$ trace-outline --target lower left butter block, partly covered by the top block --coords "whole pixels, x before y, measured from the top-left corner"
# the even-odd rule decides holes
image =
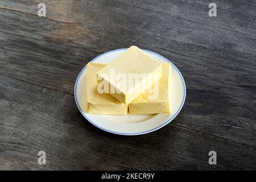
[[[99,93],[97,89],[97,72],[105,64],[88,63],[85,77],[85,113],[91,114],[127,114],[126,104],[116,100],[107,93]]]

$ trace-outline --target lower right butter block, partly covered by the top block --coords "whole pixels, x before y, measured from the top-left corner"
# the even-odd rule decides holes
[[[154,86],[157,89],[148,89],[129,104],[131,114],[157,114],[170,112],[171,65],[162,63],[163,77]],[[152,87],[152,88],[153,88]],[[150,92],[149,92],[150,91]],[[158,93],[157,93],[158,92]]]

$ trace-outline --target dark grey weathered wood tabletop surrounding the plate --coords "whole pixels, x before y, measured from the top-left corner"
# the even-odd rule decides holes
[[[40,2],[0,0],[0,169],[256,169],[256,1],[214,1],[209,17],[212,1],[44,0],[45,18]],[[187,98],[167,126],[126,137],[87,122],[73,88],[131,45],[172,60]]]

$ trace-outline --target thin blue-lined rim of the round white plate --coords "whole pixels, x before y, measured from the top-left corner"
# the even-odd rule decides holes
[[[108,53],[115,52],[115,51],[122,51],[122,50],[126,50],[126,49],[127,49],[127,48],[121,48],[121,49],[115,49],[115,50],[112,50],[112,51],[108,51],[108,52],[102,53],[101,55],[95,57],[95,58],[94,58],[92,61],[90,61],[90,62],[96,61],[98,58],[100,58],[101,56],[104,56],[104,55],[106,55],[106,54],[108,54]],[[170,122],[177,116],[177,114],[179,114],[181,108],[183,107],[184,102],[185,102],[185,97],[186,97],[186,86],[185,86],[184,78],[183,78],[183,76],[181,75],[179,69],[177,69],[177,68],[175,67],[175,65],[174,65],[171,61],[169,61],[168,59],[166,59],[166,57],[163,57],[163,56],[159,55],[158,53],[155,53],[155,52],[152,52],[152,51],[148,51],[148,50],[145,50],[145,49],[142,49],[142,50],[143,50],[144,52],[150,52],[150,53],[152,53],[152,54],[154,54],[154,55],[156,55],[156,56],[162,57],[162,59],[164,59],[164,60],[167,61],[168,63],[171,63],[172,67],[174,67],[174,68],[176,69],[177,73],[179,73],[179,76],[180,76],[180,78],[181,78],[181,80],[182,80],[182,83],[183,83],[183,100],[182,100],[182,102],[181,102],[181,104],[180,104],[180,106],[179,106],[179,109],[176,111],[176,113],[174,114],[173,117],[167,119],[167,121],[165,121],[162,125],[160,125],[160,126],[158,126],[158,127],[155,127],[154,129],[147,130],[147,131],[143,131],[143,132],[140,132],[140,133],[118,133],[118,132],[116,132],[116,131],[111,131],[111,130],[108,130],[108,129],[104,129],[104,128],[102,128],[102,127],[96,125],[96,123],[94,123],[94,122],[91,121],[88,117],[86,117],[86,115],[84,114],[84,112],[81,110],[81,107],[80,107],[79,103],[77,102],[77,94],[76,94],[77,82],[79,81],[79,78],[80,78],[82,72],[84,72],[84,70],[86,69],[86,67],[87,67],[87,64],[86,64],[85,67],[82,68],[82,71],[79,73],[79,76],[78,76],[77,79],[76,79],[75,92],[74,92],[74,93],[75,93],[75,101],[76,101],[77,107],[79,108],[81,114],[85,117],[85,119],[87,119],[90,123],[92,123],[94,126],[98,127],[99,129],[104,130],[104,131],[108,131],[109,133],[118,134],[118,135],[142,135],[142,134],[147,134],[147,133],[150,133],[150,132],[152,132],[152,131],[158,130],[158,129],[160,129],[160,128],[166,126],[168,123],[170,123]]]

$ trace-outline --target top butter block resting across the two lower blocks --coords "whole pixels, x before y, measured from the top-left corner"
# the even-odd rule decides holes
[[[137,78],[139,76],[139,79],[129,80],[133,76]],[[146,92],[147,88],[161,77],[162,65],[136,46],[128,48],[97,73],[98,82],[109,85],[108,88],[105,86],[105,93],[125,104],[129,104],[141,93]],[[126,82],[121,84],[125,79]]]

